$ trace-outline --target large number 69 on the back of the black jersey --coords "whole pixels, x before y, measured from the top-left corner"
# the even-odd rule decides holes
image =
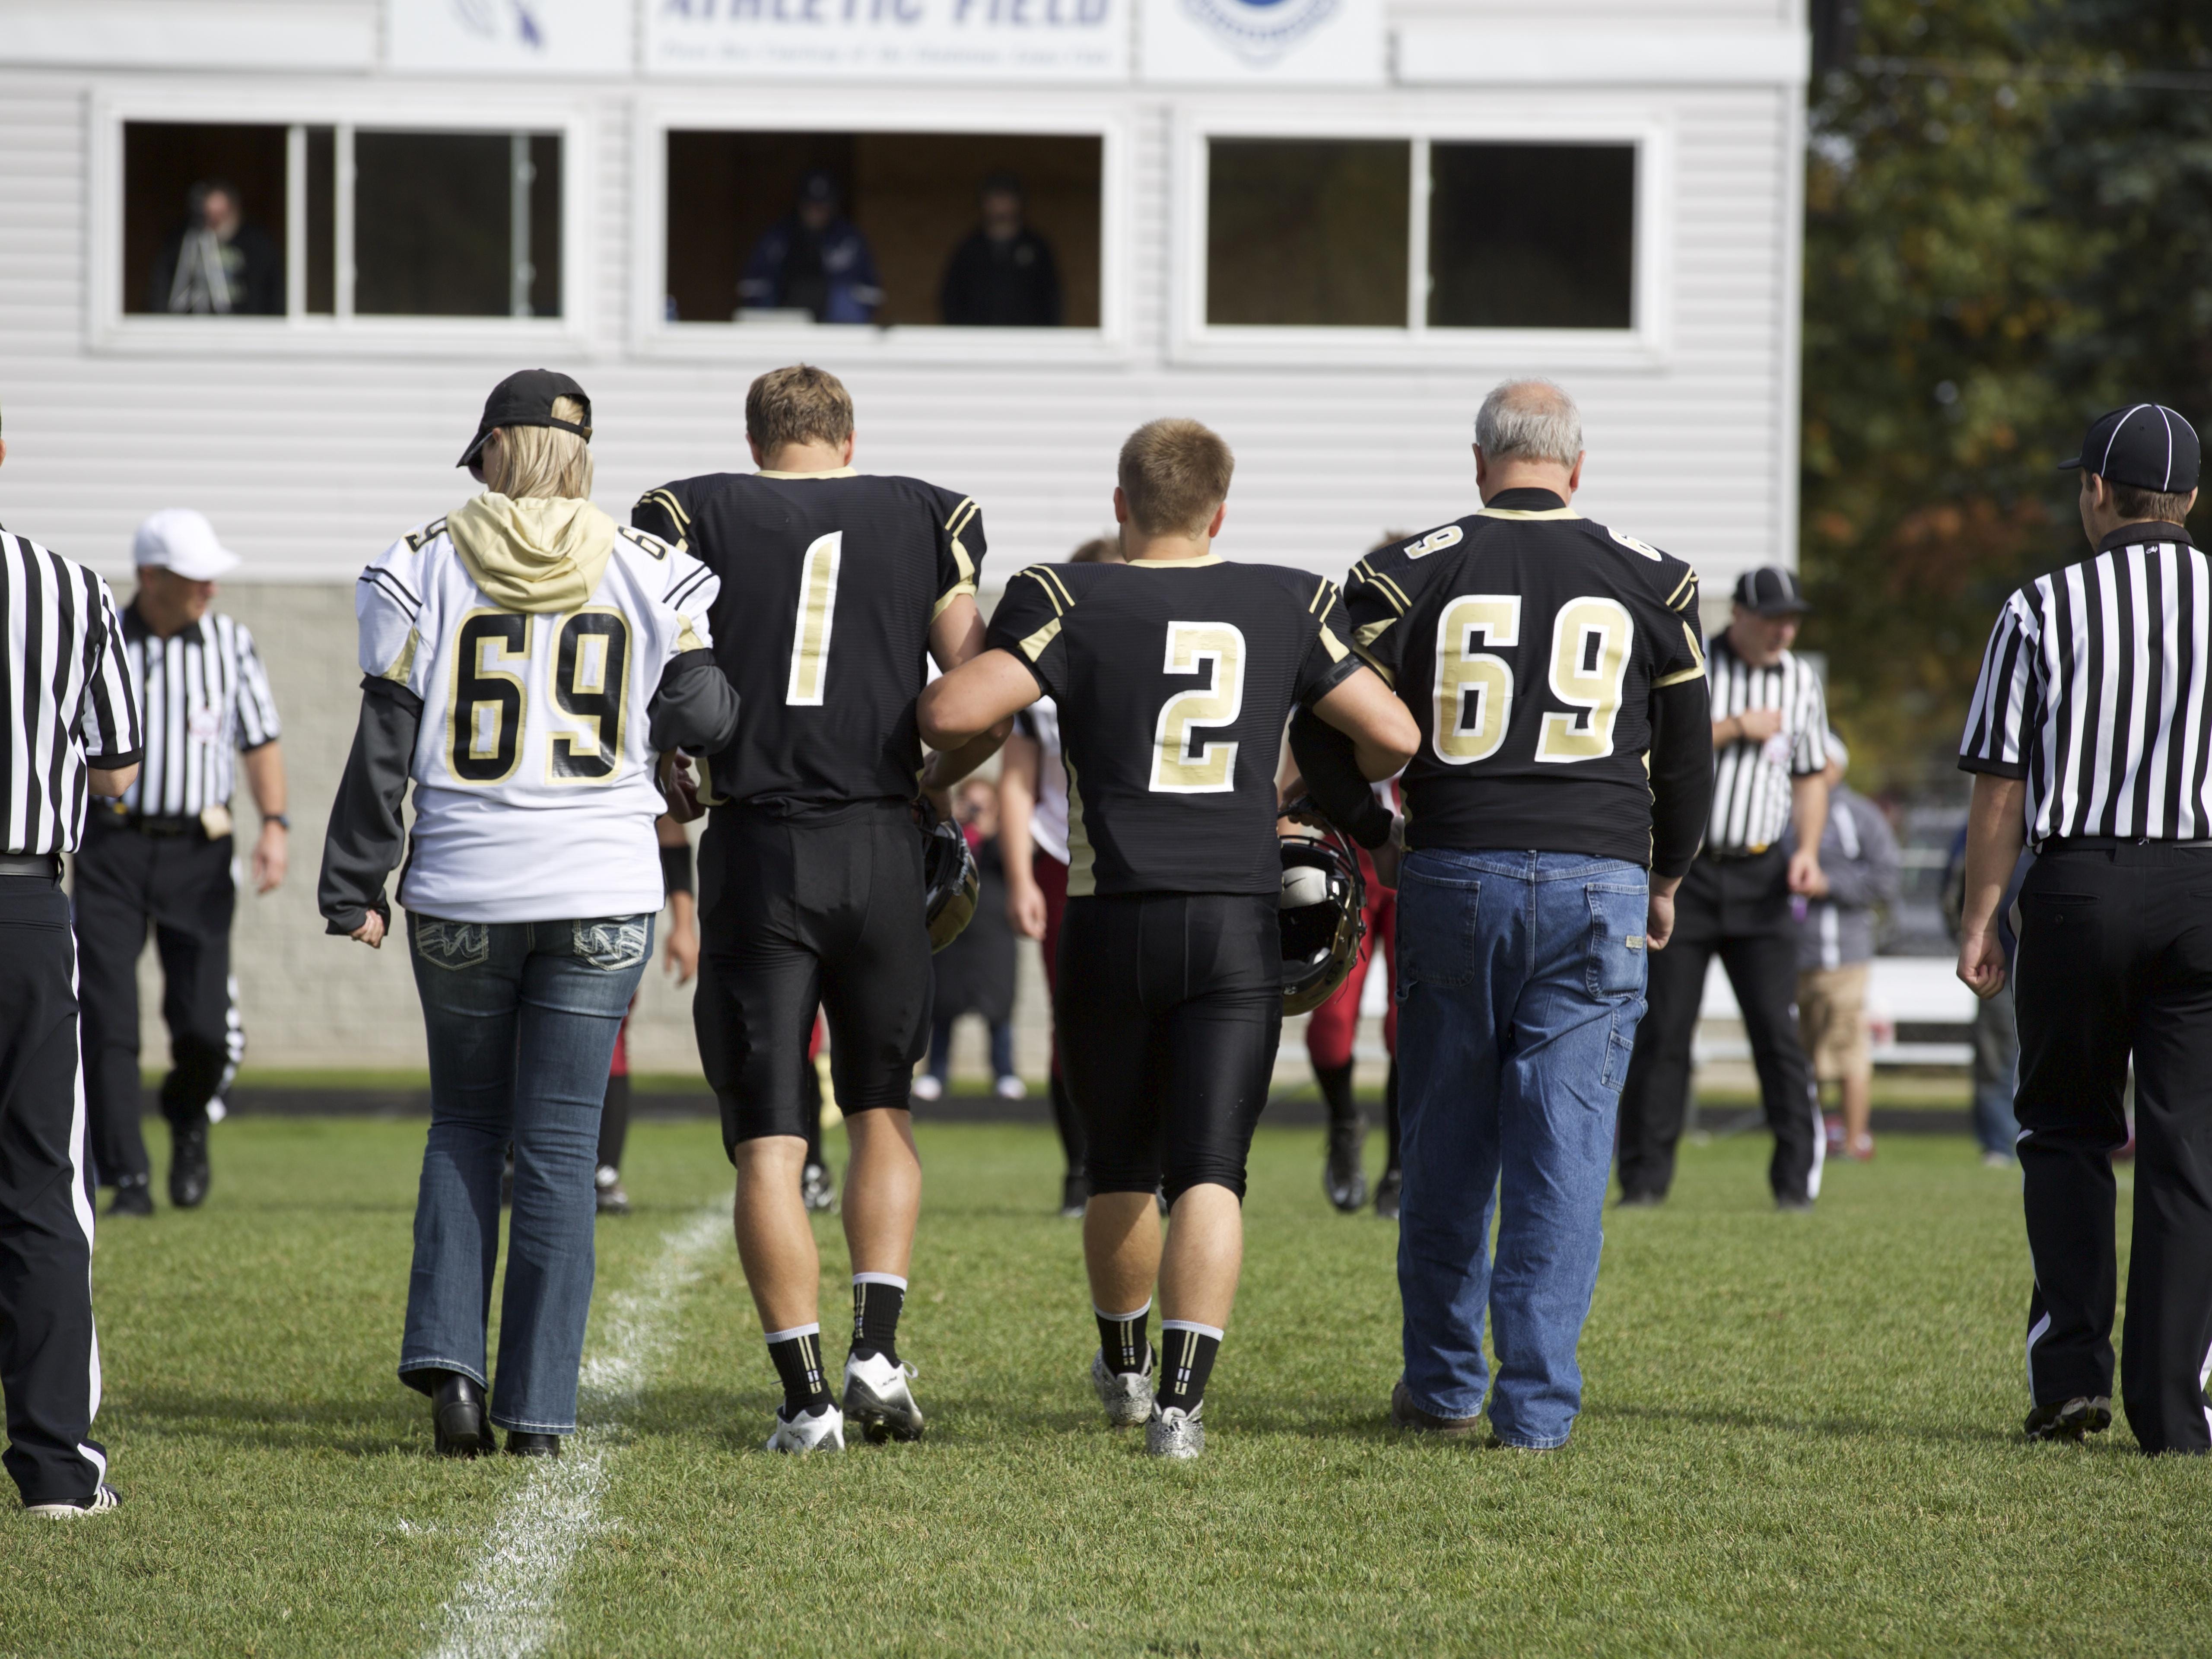
[[[1469,593],[1436,619],[1429,745],[1444,765],[1473,765],[1504,745],[1513,726],[1513,664],[1489,648],[1517,646],[1520,622],[1517,593]],[[1613,754],[1632,639],[1635,626],[1619,599],[1584,595],[1559,606],[1551,626],[1551,695],[1573,712],[1544,714],[1537,763],[1571,765]]]

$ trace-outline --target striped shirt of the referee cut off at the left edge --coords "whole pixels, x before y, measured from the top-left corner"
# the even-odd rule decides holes
[[[0,852],[75,852],[86,772],[139,759],[137,686],[108,584],[0,531]]]

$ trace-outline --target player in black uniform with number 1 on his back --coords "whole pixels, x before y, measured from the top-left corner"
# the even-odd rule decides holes
[[[783,1380],[774,1451],[914,1440],[898,1360],[922,1168],[907,1086],[929,1020],[922,774],[914,697],[925,653],[982,650],[975,502],[852,467],[852,396],[834,374],[774,369],[745,394],[754,473],[648,491],[633,524],[721,575],[714,650],[739,692],[737,739],[701,765],[699,1055],[737,1166],[737,1248]],[[967,772],[1004,732],[967,757]],[[845,1243],[854,1340],[843,1396],[821,1358],[818,1259],[801,1199],[814,1009],[852,1135]],[[843,1411],[841,1411],[843,1398]]]

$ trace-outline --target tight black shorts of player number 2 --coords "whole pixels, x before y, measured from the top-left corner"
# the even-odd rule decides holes
[[[1071,898],[1053,1022],[1093,1192],[1245,1190],[1283,1040],[1274,898]]]

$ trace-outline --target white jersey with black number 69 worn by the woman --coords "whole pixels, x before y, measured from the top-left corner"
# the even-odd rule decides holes
[[[436,520],[363,573],[361,668],[422,699],[398,900],[456,922],[661,907],[646,706],[670,659],[710,650],[719,580],[622,529],[573,611],[498,606]]]

